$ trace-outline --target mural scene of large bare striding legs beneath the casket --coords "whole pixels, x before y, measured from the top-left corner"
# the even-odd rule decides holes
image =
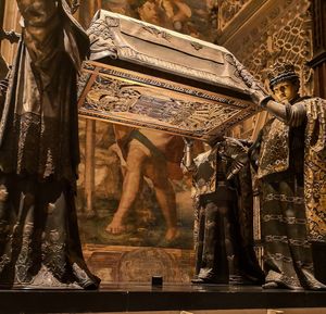
[[[191,249],[189,178],[176,136],[96,123],[92,209],[85,193],[85,121],[80,121],[78,209],[83,240],[97,244]]]

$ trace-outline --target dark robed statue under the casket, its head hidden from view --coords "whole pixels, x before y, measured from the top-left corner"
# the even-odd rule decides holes
[[[196,204],[192,282],[262,284],[264,275],[253,250],[253,198],[246,147],[237,139],[224,138],[193,163],[190,160],[186,153],[184,165],[192,173]]]

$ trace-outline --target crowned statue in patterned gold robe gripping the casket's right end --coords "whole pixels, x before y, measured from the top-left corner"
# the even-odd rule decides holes
[[[313,265],[312,246],[325,254],[326,101],[300,97],[299,86],[294,66],[280,64],[269,73],[273,97],[254,92],[273,117],[251,156],[261,183],[264,287],[318,290],[326,286],[316,271],[325,275],[325,264]]]

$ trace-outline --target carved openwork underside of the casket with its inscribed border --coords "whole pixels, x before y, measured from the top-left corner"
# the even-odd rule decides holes
[[[148,95],[154,98],[150,108]],[[155,108],[161,102],[158,113]],[[180,116],[172,114],[175,105],[180,106]],[[225,134],[255,113],[256,108],[250,101],[97,62],[84,63],[79,81],[83,116],[203,140]]]

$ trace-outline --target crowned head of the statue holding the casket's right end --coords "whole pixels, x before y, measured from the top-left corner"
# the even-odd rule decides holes
[[[274,65],[268,72],[268,79],[269,88],[277,101],[290,102],[298,97],[300,80],[293,64]]]

